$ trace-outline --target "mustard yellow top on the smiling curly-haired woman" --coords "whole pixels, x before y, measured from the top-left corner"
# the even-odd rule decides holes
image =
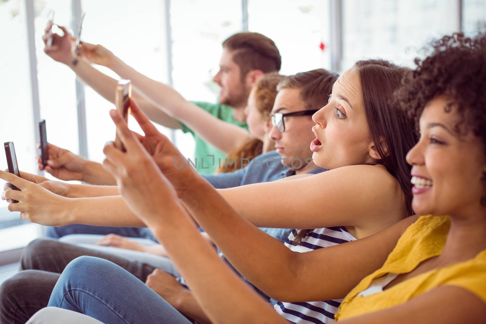
[[[486,303],[486,250],[465,262],[419,274],[384,291],[363,296],[373,279],[388,273],[409,273],[420,262],[442,253],[451,222],[449,216],[421,216],[400,237],[382,268],[365,277],[349,292],[335,320],[364,315],[403,304],[439,286],[458,286]]]

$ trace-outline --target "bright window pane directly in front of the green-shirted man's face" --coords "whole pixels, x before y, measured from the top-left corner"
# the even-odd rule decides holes
[[[240,0],[171,1],[172,77],[174,88],[191,101],[216,102],[219,89],[212,82],[218,72],[221,43],[242,31]],[[179,150],[193,157],[191,134],[176,132]]]

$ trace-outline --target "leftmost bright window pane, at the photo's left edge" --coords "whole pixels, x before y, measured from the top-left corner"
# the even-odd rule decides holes
[[[32,102],[27,13],[23,1],[0,1],[0,167],[7,168],[3,142],[15,144],[19,169],[35,172],[35,127]],[[3,191],[3,180],[0,189]],[[0,251],[16,248],[36,236],[35,225],[19,225],[18,213],[0,200]],[[7,228],[9,227],[9,228]],[[20,228],[22,227],[22,228]],[[34,230],[33,230],[34,229]]]

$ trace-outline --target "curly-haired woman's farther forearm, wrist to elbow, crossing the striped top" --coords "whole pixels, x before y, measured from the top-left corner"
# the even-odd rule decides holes
[[[197,182],[183,202],[231,264],[271,297],[296,284],[296,254],[238,215],[208,182]]]

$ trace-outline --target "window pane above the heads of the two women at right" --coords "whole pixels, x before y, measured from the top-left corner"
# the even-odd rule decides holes
[[[413,66],[417,50],[432,38],[459,30],[457,0],[343,0],[345,70],[362,58],[386,58]]]

